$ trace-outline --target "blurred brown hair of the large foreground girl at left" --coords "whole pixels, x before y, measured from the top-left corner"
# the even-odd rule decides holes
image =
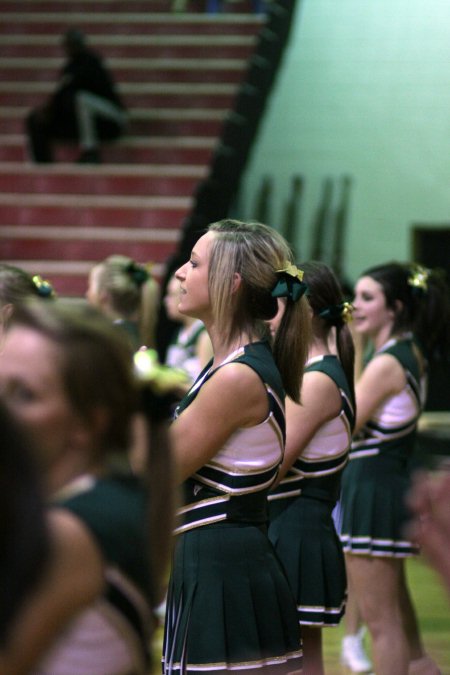
[[[96,412],[106,411],[98,452],[125,451],[137,396],[126,337],[84,300],[23,303],[12,322],[57,345],[66,394],[86,422],[93,424]]]

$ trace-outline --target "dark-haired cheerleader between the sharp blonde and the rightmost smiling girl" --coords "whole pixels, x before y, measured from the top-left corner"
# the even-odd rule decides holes
[[[339,497],[355,419],[353,341],[332,270],[302,264],[312,317],[301,404],[287,400],[286,452],[269,495],[269,536],[294,590],[302,628],[304,670],[323,675],[321,629],[344,614],[346,572],[332,511]],[[272,322],[276,331],[281,311]]]

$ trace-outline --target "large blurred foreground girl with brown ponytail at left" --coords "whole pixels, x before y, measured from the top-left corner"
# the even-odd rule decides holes
[[[23,304],[0,392],[33,441],[50,537],[0,672],[144,675],[170,541],[170,453],[153,430],[147,480],[128,467],[140,392],[125,337],[85,302]],[[161,492],[167,509],[155,515]]]

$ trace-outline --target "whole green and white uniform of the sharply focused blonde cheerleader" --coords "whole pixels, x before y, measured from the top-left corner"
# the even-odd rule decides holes
[[[294,598],[266,532],[267,493],[284,452],[284,392],[267,343],[236,350],[219,368],[236,362],[259,375],[270,412],[232,434],[183,486],[164,673],[284,675],[301,668]],[[177,415],[215,372],[205,368]]]

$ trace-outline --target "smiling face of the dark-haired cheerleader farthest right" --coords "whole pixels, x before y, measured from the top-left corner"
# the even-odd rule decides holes
[[[383,287],[372,277],[358,280],[353,307],[353,327],[363,335],[370,337],[394,323],[394,312],[386,306]]]

